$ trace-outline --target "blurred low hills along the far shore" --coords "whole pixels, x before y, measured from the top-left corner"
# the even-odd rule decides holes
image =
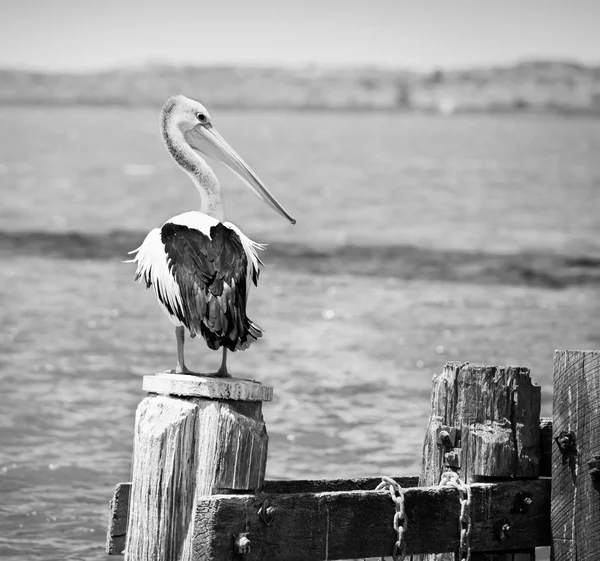
[[[160,106],[177,92],[228,108],[600,114],[600,65],[531,60],[428,72],[171,64],[86,73],[0,70],[3,105]]]

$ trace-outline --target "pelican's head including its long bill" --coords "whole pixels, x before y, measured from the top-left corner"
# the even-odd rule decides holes
[[[176,128],[192,150],[225,164],[259,199],[292,224],[296,223],[296,219],[277,202],[250,166],[217,132],[204,105],[183,95],[170,97],[162,109],[161,126],[167,143],[173,136],[172,128]]]

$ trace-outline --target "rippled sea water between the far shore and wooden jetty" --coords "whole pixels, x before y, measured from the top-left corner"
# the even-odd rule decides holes
[[[269,244],[230,355],[273,386],[270,479],[415,475],[447,361],[531,369],[600,348],[600,120],[215,110],[297,218],[217,168],[228,220]],[[142,377],[173,327],[128,251],[198,194],[158,110],[0,109],[0,558],[106,559]],[[195,370],[219,353],[186,347]]]

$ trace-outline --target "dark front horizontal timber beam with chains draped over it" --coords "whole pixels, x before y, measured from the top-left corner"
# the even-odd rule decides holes
[[[455,551],[458,492],[404,490],[407,554]],[[524,506],[524,497],[532,499]],[[517,551],[550,543],[550,481],[472,486],[472,550]],[[270,507],[265,519],[260,513]],[[262,508],[262,511],[261,511]],[[314,561],[390,555],[394,504],[386,491],[215,495],[198,503],[194,561],[231,559],[247,534],[245,561]],[[509,531],[502,533],[508,525]]]

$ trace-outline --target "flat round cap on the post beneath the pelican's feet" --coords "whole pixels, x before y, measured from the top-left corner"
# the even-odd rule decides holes
[[[142,389],[151,393],[181,397],[207,397],[234,401],[271,401],[273,399],[273,388],[263,386],[254,380],[166,372],[154,376],[144,376]]]

